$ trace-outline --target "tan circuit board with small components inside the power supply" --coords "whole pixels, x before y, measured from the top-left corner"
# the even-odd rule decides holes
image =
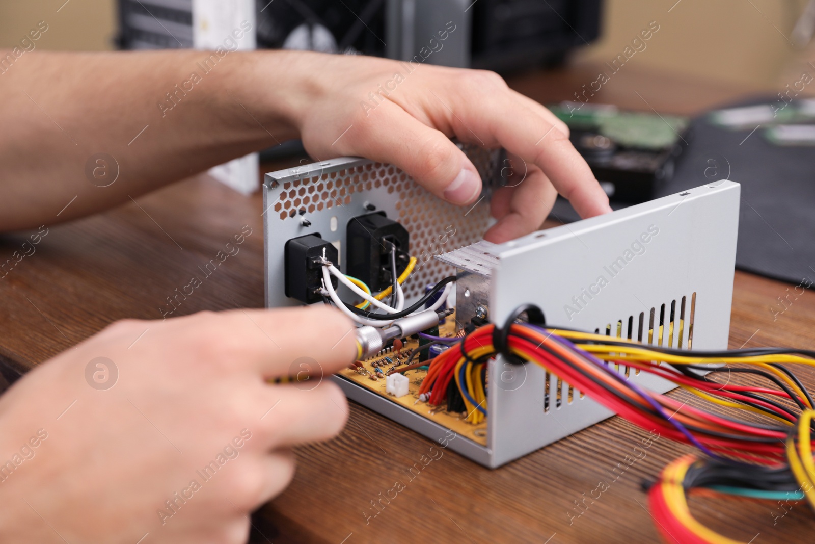
[[[452,316],[448,316],[443,325],[438,325],[438,331],[443,337],[456,336],[456,315],[453,314]],[[416,412],[416,414],[421,414],[423,417],[428,418],[431,421],[442,425],[443,427],[451,429],[459,436],[464,436],[465,438],[469,438],[469,440],[473,440],[477,444],[486,446],[486,421],[479,423],[478,425],[473,425],[465,422],[465,416],[467,414],[447,412],[445,406],[431,406],[426,402],[419,400],[419,386],[421,385],[422,380],[425,379],[425,376],[427,376],[427,370],[415,369],[408,370],[404,373],[404,375],[410,379],[407,388],[407,395],[397,398],[395,396],[388,395],[385,392],[384,373],[386,373],[393,365],[404,365],[407,361],[407,357],[410,355],[410,352],[412,352],[412,350],[416,347],[419,347],[419,340],[407,338],[403,343],[403,347],[399,351],[399,354],[394,352],[393,347],[388,347],[377,353],[377,355],[372,356],[370,359],[359,361],[359,363],[362,364],[362,369],[364,370],[342,369],[339,374],[370,391],[374,391],[375,393],[384,396],[391,402],[402,405],[403,407]],[[385,361],[385,357],[390,358],[393,363],[391,364],[390,362]],[[383,374],[379,374],[377,372],[377,365],[381,365]],[[399,366],[396,368],[398,369]],[[371,377],[372,374],[378,374],[379,376],[383,377],[375,379]]]

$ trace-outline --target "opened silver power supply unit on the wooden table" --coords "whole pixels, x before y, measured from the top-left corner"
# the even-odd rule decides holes
[[[379,213],[400,223],[409,235],[409,246],[402,249],[416,258],[416,266],[405,283],[407,303],[420,299],[427,285],[455,276],[455,296],[447,299],[455,314],[438,324],[437,335],[463,334],[476,321],[502,323],[513,308],[531,303],[540,307],[553,329],[596,331],[685,350],[727,347],[738,184],[720,181],[492,244],[481,235],[490,223],[491,191],[506,183],[501,155],[480,148],[465,151],[485,188],[470,210],[439,201],[395,166],[363,158],[267,174],[267,307],[302,304],[286,295],[289,241],[314,235],[336,248],[333,264],[346,272],[348,236],[354,232],[349,224]],[[383,245],[383,254],[389,250],[394,249]],[[315,261],[303,266],[309,263]],[[395,276],[403,270],[391,272]],[[327,287],[318,278],[309,289],[324,296]],[[341,295],[354,297],[347,290]],[[394,341],[333,378],[350,399],[432,440],[443,440],[486,467],[499,467],[613,415],[556,375],[536,365],[511,364],[500,355],[487,364],[489,414],[479,424],[422,400],[418,387],[424,370],[405,373],[410,378],[403,389],[407,394],[394,395],[394,387],[405,385],[390,379],[385,383],[381,367],[402,365],[404,350],[399,347],[422,342]],[[617,365],[615,372],[652,391],[676,387],[626,365]]]

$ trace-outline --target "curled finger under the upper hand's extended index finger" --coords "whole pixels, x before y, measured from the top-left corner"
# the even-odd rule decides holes
[[[557,192],[546,175],[535,166],[529,167],[521,184],[501,188],[499,205],[502,200],[505,202],[505,213],[496,216],[498,223],[484,234],[484,239],[500,243],[538,230],[552,210],[556,197]]]

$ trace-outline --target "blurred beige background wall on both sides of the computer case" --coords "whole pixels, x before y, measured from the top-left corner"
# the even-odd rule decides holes
[[[576,60],[612,60],[655,20],[659,31],[632,58],[638,66],[772,86],[795,55],[785,36],[806,1],[606,0],[603,36]],[[3,0],[0,46],[14,46],[40,20],[49,26],[37,43],[44,49],[112,48],[113,0]]]

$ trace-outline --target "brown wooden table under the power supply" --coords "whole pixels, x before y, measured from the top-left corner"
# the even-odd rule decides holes
[[[594,81],[598,70],[589,65],[510,82],[542,102],[566,100]],[[694,113],[744,94],[735,86],[626,67],[593,100]],[[242,197],[199,176],[108,213],[49,227],[36,253],[0,279],[0,361],[30,369],[111,321],[160,318],[166,298],[244,225],[253,232],[240,254],[176,313],[262,307],[261,211],[259,194]],[[2,237],[2,262],[23,241],[22,235]],[[788,287],[736,273],[731,347],[815,348],[815,294],[800,295],[773,319],[770,308]],[[608,480],[608,471],[642,436],[632,425],[612,418],[496,471],[447,451],[407,482],[377,517],[368,518],[374,513],[372,501],[396,480],[407,480],[403,470],[434,444],[352,403],[350,423],[341,436],[298,449],[293,484],[262,515],[279,531],[274,542],[654,542],[657,533],[645,510],[641,481],[689,451],[664,439],[656,440],[647,457],[573,517],[579,513],[575,501],[597,488],[600,480]],[[787,542],[798,540],[796,536],[811,540],[815,529],[803,505],[776,519],[773,514],[784,511],[773,504],[692,503],[703,523],[745,542]],[[263,532],[271,537],[272,531],[267,527]]]

